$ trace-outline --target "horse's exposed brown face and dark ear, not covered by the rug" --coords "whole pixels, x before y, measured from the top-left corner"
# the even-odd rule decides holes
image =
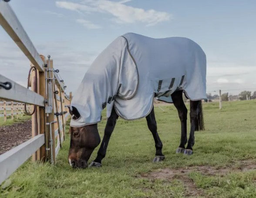
[[[75,107],[72,108],[72,111],[70,110],[70,114],[73,115],[72,119],[78,119],[80,117]],[[101,142],[97,124],[79,128],[70,127],[69,132],[71,135],[68,153],[69,164],[73,168],[86,168],[94,148]]]

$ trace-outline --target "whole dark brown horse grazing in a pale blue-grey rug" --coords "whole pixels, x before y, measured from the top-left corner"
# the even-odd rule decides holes
[[[188,111],[182,93],[190,99],[189,140]],[[183,37],[154,39],[134,33],[118,37],[94,60],[71,101],[70,165],[88,167],[88,160],[101,141],[97,123],[105,107],[108,120],[91,167],[102,166],[118,117],[146,117],[155,140],[153,161],[164,160],[153,107],[155,97],[177,108],[181,140],[176,153],[191,155],[195,131],[204,130],[201,101],[207,99],[205,53],[194,41]]]

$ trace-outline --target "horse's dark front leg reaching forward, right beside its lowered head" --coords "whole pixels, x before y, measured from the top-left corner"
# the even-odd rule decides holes
[[[101,160],[105,157],[107,148],[108,148],[108,142],[111,137],[112,132],[114,131],[116,121],[118,119],[118,114],[115,112],[115,108],[113,107],[111,111],[111,115],[108,118],[105,130],[104,130],[104,136],[101,142],[101,147],[98,150],[97,157],[94,161],[91,162],[90,167],[101,167]]]

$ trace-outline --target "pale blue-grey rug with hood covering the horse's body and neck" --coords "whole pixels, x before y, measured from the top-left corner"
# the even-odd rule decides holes
[[[115,39],[91,64],[71,101],[81,117],[71,127],[101,121],[114,107],[127,120],[147,116],[154,94],[172,102],[183,90],[190,100],[206,99],[206,57],[194,41],[183,37],[154,39],[128,33]]]

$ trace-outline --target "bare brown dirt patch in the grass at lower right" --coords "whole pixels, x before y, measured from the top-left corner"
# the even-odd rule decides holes
[[[195,183],[191,178],[189,178],[189,173],[192,171],[201,172],[204,175],[226,175],[231,172],[238,171],[249,171],[256,169],[256,160],[243,160],[236,161],[231,163],[229,166],[223,168],[216,168],[212,166],[192,166],[185,168],[164,168],[158,171],[149,172],[142,174],[141,177],[148,178],[150,180],[155,179],[165,179],[171,181],[172,179],[178,179],[183,182],[186,192],[185,196],[195,197],[195,196],[204,196],[204,191],[200,188],[197,188]]]

